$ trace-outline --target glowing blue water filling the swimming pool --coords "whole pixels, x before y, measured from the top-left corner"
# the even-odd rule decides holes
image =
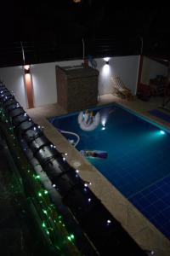
[[[77,149],[104,150],[108,158],[88,160],[150,222],[170,238],[170,134],[117,105],[94,108],[101,123],[94,131],[82,131],[78,113],[50,119],[63,131],[80,137]],[[105,122],[105,130],[102,129]],[[162,131],[161,131],[162,130]],[[70,134],[63,134],[77,140]]]

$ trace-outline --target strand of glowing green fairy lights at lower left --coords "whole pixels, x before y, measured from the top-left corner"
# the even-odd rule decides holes
[[[0,110],[1,111],[1,110]],[[11,123],[10,119],[7,119],[7,116],[2,113],[4,116],[3,122],[6,122],[8,124]],[[1,116],[2,116],[1,115]],[[11,145],[14,145],[16,147],[16,150],[18,150],[19,145],[17,142],[17,137],[14,136],[14,127],[11,127],[11,125],[7,129],[8,135],[10,135],[10,142]],[[13,148],[13,146],[12,146]],[[21,161],[22,165],[22,155],[16,155],[16,158]],[[37,165],[41,166],[41,165]],[[31,193],[33,193],[31,196],[37,195],[37,198],[33,197],[36,200],[37,204],[37,211],[38,213],[41,212],[41,215],[43,213],[42,221],[40,226],[42,226],[42,229],[44,234],[47,234],[48,239],[52,242],[54,247],[57,247],[59,250],[65,251],[65,248],[59,247],[58,245],[55,245],[56,243],[56,234],[58,232],[61,232],[61,236],[63,236],[63,239],[67,241],[67,244],[70,247],[75,247],[74,242],[72,242],[75,239],[75,236],[73,234],[69,234],[67,230],[64,228],[65,224],[63,224],[63,218],[61,215],[58,215],[59,212],[57,211],[57,207],[54,206],[54,204],[51,204],[51,201],[48,199],[48,194],[50,193],[40,182],[40,179],[42,178],[40,175],[37,175],[39,173],[36,172],[35,169],[32,169],[29,165],[20,166],[20,168],[26,172],[26,177],[31,181],[32,189]],[[34,174],[33,174],[34,173]]]

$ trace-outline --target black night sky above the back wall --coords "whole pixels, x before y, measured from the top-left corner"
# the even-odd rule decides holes
[[[138,44],[143,41],[144,54],[170,57],[169,9],[165,4],[6,0],[1,4],[0,19],[1,42],[48,42],[54,47],[69,47],[81,44],[82,38],[90,44],[96,38],[113,38],[123,55],[126,42],[138,38]]]

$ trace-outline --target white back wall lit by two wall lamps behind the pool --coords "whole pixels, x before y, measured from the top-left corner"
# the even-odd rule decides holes
[[[109,65],[105,64],[103,58],[95,59],[95,61],[99,70],[100,95],[111,93],[111,76],[119,76],[133,94],[136,93],[139,69],[138,55],[110,58]],[[65,67],[81,64],[82,60],[31,65],[35,107],[57,102],[56,65]],[[27,100],[22,67],[0,68],[0,79],[3,79],[9,90],[14,90],[17,100],[26,108]]]

